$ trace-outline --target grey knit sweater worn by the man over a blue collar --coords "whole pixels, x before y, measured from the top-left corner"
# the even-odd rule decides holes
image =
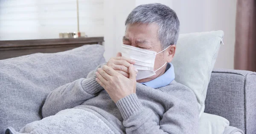
[[[157,89],[137,83],[136,94],[114,103],[95,80],[95,71],[53,90],[42,108],[43,117],[75,108],[92,112],[116,134],[198,133],[197,101],[188,87],[175,81]]]

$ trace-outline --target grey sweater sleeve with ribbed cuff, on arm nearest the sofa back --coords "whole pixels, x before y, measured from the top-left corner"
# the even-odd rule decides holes
[[[102,65],[97,68],[99,67]],[[80,78],[50,92],[42,108],[42,116],[55,115],[61,110],[73,108],[95,97],[95,94],[103,89],[95,80],[96,70],[90,72],[87,78]]]

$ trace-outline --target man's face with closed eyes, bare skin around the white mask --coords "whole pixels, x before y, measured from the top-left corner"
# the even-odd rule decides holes
[[[157,24],[133,24],[128,25],[123,37],[123,44],[131,45],[145,50],[155,52],[162,51],[161,43],[158,39],[158,25]],[[169,59],[169,49],[157,54],[154,62],[154,70],[162,67],[166,62],[171,62]],[[166,65],[156,72],[156,75],[149,78],[137,80],[137,82],[151,81],[162,75],[165,72]]]

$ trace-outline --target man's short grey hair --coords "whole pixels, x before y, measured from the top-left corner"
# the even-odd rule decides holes
[[[180,21],[171,8],[160,3],[140,5],[128,15],[125,26],[134,23],[156,23],[158,25],[158,39],[162,49],[177,43],[180,31]]]

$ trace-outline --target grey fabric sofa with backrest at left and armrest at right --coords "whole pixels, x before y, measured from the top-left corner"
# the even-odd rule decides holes
[[[0,134],[9,126],[20,130],[27,123],[41,120],[41,108],[49,92],[86,77],[105,62],[103,53],[101,45],[84,45],[60,53],[0,60]],[[255,134],[255,81],[254,72],[213,70],[204,112],[226,118],[230,126],[245,134]]]

